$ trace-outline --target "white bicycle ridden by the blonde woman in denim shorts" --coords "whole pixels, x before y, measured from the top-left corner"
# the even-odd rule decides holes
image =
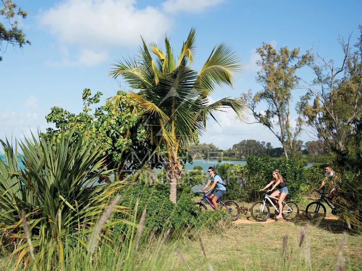
[[[270,202],[270,204],[275,209],[275,214],[279,214],[279,208],[275,207],[273,201],[271,199],[277,199],[276,197],[272,197],[265,194],[265,198],[262,201],[254,202],[251,207],[251,216],[255,221],[263,222],[266,221],[270,216],[270,208],[266,203],[266,200]],[[254,208],[255,207],[255,208]],[[299,207],[294,201],[283,201],[282,202],[282,217],[287,221],[295,220],[299,215]]]

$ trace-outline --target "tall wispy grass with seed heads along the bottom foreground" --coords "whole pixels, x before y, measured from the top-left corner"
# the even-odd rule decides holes
[[[114,201],[109,204],[108,211],[104,212],[105,216],[110,215],[113,206]],[[269,257],[258,252],[256,243],[240,244],[247,247],[248,255],[238,254],[237,251],[223,251],[223,244],[215,248],[215,254],[212,250],[207,250],[206,246],[208,239],[216,232],[207,229],[195,231],[191,239],[172,233],[170,229],[164,229],[159,236],[150,237],[143,227],[143,219],[136,223],[137,208],[138,205],[132,212],[133,223],[130,223],[121,235],[114,236],[110,224],[105,224],[100,233],[99,225],[104,221],[104,217],[101,216],[88,235],[77,237],[75,243],[70,236],[62,241],[64,251],[56,251],[56,257],[62,260],[51,262],[49,265],[46,259],[50,257],[47,254],[50,248],[47,248],[42,253],[37,253],[35,260],[29,262],[24,270],[262,270],[263,262]],[[84,231],[80,233],[84,235]],[[94,242],[93,236],[100,242]],[[356,270],[346,262],[345,241],[346,234],[341,235],[338,259],[330,264],[336,270]],[[188,251],[190,246],[193,247],[191,253]],[[277,249],[280,257],[270,261],[268,270],[325,270],[325,266],[311,258],[307,227],[301,229],[295,244],[288,243],[285,237],[280,248],[270,249]],[[20,266],[23,267],[24,265]],[[9,266],[9,270],[10,268],[12,267]]]

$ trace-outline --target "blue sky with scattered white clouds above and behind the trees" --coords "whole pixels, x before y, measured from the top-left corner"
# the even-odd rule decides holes
[[[314,46],[327,60],[340,64],[338,35],[352,44],[362,24],[362,1],[266,1],[266,0],[63,0],[14,1],[29,13],[19,20],[31,45],[8,47],[0,62],[0,139],[24,138],[29,131],[52,127],[45,120],[53,106],[79,113],[81,94],[89,88],[101,91],[101,102],[130,90],[122,81],[108,74],[111,64],[138,53],[140,35],[146,42],[163,45],[165,34],[178,52],[191,27],[197,29],[197,56],[193,68],[200,69],[212,48],[227,42],[238,53],[243,72],[235,76],[235,86],[217,88],[211,100],[237,98],[249,89],[261,90],[256,83],[258,55],[263,42],[275,48],[300,48],[304,53]],[[0,52],[1,54],[1,52]],[[307,68],[297,72],[311,81]],[[293,103],[305,90],[292,91]],[[265,110],[261,104],[258,110]],[[295,118],[293,110],[292,116]],[[246,120],[252,120],[246,114]],[[271,142],[277,138],[259,124],[240,121],[231,112],[216,114],[207,123],[200,142],[214,143],[228,149],[244,139]],[[277,129],[277,128],[275,128]],[[300,140],[315,139],[304,127]]]

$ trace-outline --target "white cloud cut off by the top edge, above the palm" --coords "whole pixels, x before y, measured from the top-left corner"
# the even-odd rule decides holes
[[[168,0],[162,3],[166,12],[175,13],[178,11],[200,13],[206,8],[222,3],[224,0]]]

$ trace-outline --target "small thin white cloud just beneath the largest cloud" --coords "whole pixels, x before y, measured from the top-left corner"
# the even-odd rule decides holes
[[[106,61],[107,55],[105,52],[96,53],[89,49],[80,50],[80,56],[77,60],[69,58],[58,61],[46,61],[46,65],[55,68],[64,68],[71,66],[86,66],[92,67]]]

